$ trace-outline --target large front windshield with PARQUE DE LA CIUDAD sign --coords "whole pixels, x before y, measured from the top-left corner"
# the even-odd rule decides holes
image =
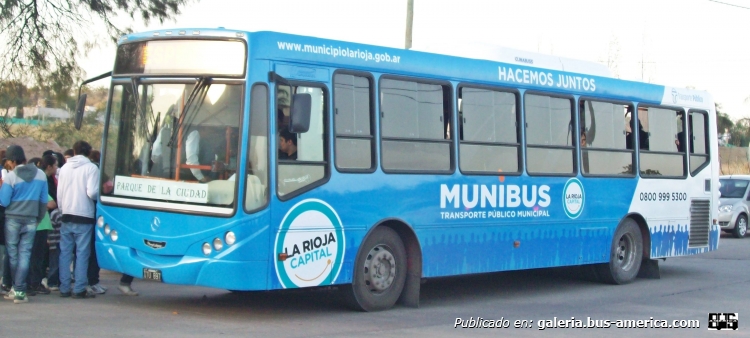
[[[242,93],[242,85],[206,79],[114,84],[102,200],[233,208]]]

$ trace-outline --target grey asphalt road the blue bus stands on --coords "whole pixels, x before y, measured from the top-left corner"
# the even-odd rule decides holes
[[[92,300],[52,295],[27,304],[0,302],[0,337],[455,337],[750,336],[750,238],[722,237],[719,250],[661,262],[660,280],[622,286],[579,277],[576,268],[493,273],[429,280],[419,309],[352,312],[335,291],[234,294],[136,280],[141,293],[116,290]],[[737,312],[740,330],[707,330],[709,312]],[[509,320],[504,329],[454,329],[457,317]],[[539,330],[539,320],[699,320],[699,329]],[[744,320],[743,320],[744,319]],[[513,328],[530,320],[530,328]],[[647,330],[648,332],[645,332]]]

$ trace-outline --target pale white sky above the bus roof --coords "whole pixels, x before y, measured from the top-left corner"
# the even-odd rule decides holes
[[[407,0],[201,0],[135,31],[277,31],[404,47]],[[496,45],[610,67],[621,79],[710,92],[732,119],[750,118],[750,0],[414,0],[414,45]],[[115,46],[82,60],[111,70]],[[104,85],[104,84],[102,84]],[[748,99],[748,100],[746,100]]]

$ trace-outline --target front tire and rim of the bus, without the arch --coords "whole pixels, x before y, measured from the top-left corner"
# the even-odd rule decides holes
[[[406,249],[396,231],[375,229],[354,261],[350,305],[360,311],[386,310],[396,303],[406,281]]]

